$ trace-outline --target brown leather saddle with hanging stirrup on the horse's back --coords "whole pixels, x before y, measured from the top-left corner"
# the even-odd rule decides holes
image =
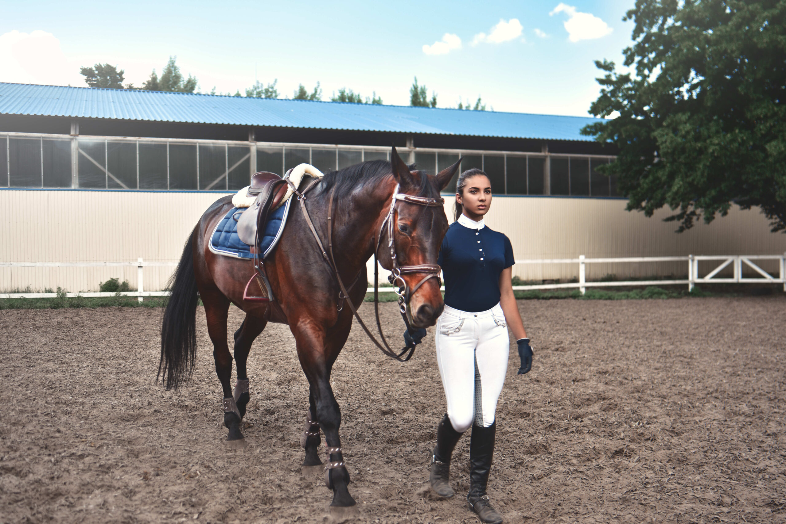
[[[243,300],[251,302],[274,301],[273,290],[264,266],[263,253],[259,253],[259,231],[264,231],[270,211],[276,209],[287,192],[287,182],[276,173],[260,171],[251,177],[246,196],[256,195],[254,203],[237,220],[237,236],[241,242],[252,246],[255,253],[254,275],[248,279],[243,290]]]

